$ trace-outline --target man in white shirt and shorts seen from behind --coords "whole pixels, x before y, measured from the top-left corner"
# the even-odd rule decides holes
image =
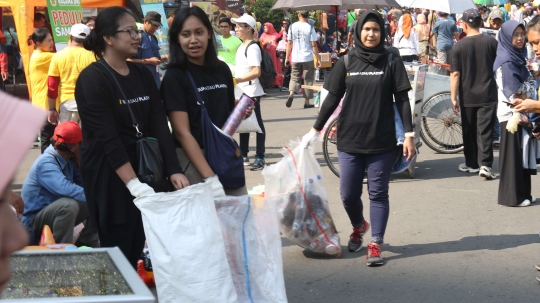
[[[317,68],[321,67],[321,58],[317,49],[317,34],[315,29],[307,22],[309,18],[308,11],[298,12],[298,22],[289,27],[287,34],[287,52],[285,56],[285,67],[292,65],[291,82],[289,83],[289,98],[285,105],[291,107],[294,98],[294,92],[300,90],[302,76],[304,84],[313,85],[315,76],[315,66],[313,57],[317,58]],[[292,52],[291,62],[289,54]],[[304,89],[304,108],[312,108],[313,104],[309,99],[313,98],[313,91]]]

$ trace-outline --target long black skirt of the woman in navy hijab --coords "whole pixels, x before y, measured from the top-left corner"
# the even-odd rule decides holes
[[[501,122],[501,146],[499,149],[499,197],[498,203],[516,206],[525,199],[531,199],[531,175],[535,170],[523,168],[521,149],[521,126],[515,134],[506,130],[508,122]]]

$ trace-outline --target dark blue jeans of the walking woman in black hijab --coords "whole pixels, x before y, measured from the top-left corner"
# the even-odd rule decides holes
[[[353,227],[364,223],[362,187],[367,171],[370,201],[371,242],[382,244],[390,213],[388,184],[396,152],[383,154],[351,154],[338,151],[341,200]]]

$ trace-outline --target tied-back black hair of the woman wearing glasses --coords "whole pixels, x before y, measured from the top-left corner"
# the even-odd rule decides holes
[[[129,11],[120,6],[111,6],[102,10],[97,18],[94,30],[84,39],[84,48],[92,51],[96,57],[103,58],[105,51],[105,40],[103,37],[116,36],[118,27],[120,27],[120,19],[125,15],[130,15]]]

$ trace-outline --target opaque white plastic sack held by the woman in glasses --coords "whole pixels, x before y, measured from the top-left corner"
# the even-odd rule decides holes
[[[135,199],[160,303],[237,302],[212,186]]]

